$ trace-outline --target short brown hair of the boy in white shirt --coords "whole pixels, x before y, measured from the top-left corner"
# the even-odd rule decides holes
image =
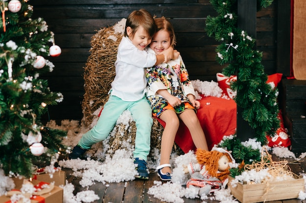
[[[138,11],[131,12],[129,17],[127,18],[124,36],[128,36],[127,27],[131,27],[131,37],[133,37],[139,26],[142,26],[145,31],[147,31],[150,37],[153,37],[153,35],[155,34],[156,25],[154,22],[154,18],[146,9],[143,8]]]

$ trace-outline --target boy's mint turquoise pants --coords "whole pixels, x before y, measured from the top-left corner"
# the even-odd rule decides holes
[[[87,131],[79,141],[81,148],[89,149],[93,144],[105,140],[116,125],[123,111],[129,110],[136,124],[134,158],[147,161],[150,152],[152,109],[146,97],[138,101],[123,101],[117,96],[109,96],[97,124]]]

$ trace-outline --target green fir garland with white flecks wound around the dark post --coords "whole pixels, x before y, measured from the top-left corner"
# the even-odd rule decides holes
[[[218,16],[207,16],[206,32],[209,37],[214,36],[220,42],[216,49],[216,60],[220,65],[227,65],[222,72],[224,75],[237,74],[237,81],[230,85],[237,92],[234,100],[242,109],[242,118],[255,131],[252,137],[264,145],[267,143],[266,135],[273,135],[280,125],[277,118],[278,91],[266,84],[267,74],[261,64],[262,53],[255,49],[255,39],[237,27],[237,0],[210,2]],[[257,0],[257,10],[272,2]],[[233,139],[223,140],[219,146],[232,151],[237,163],[251,164],[261,157],[259,149],[243,146],[236,135]],[[240,173],[239,170],[231,171],[232,176]]]

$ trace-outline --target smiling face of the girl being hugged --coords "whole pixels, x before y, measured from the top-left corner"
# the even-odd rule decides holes
[[[154,34],[150,48],[154,50],[155,54],[168,49],[171,46],[171,38],[166,30],[160,30]]]

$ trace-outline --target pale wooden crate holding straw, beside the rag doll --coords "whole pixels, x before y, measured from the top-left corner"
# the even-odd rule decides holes
[[[299,192],[304,191],[303,177],[295,176],[295,179],[271,182],[268,184],[242,184],[236,187],[231,184],[229,178],[228,187],[232,195],[241,203],[259,203],[276,200],[298,198]]]

